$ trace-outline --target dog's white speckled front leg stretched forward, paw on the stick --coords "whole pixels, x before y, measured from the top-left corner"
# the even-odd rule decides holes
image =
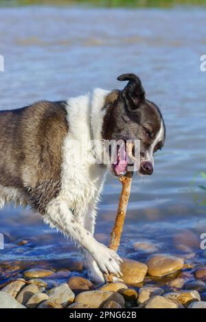
[[[93,238],[89,230],[81,225],[75,214],[69,210],[69,205],[65,199],[54,199],[47,206],[45,222],[58,228],[66,236],[71,237],[74,242],[83,247],[93,257],[100,271],[108,274],[109,272],[119,276],[121,258],[117,253],[108,249],[105,245]]]

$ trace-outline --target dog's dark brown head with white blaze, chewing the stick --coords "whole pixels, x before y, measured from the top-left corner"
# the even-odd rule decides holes
[[[106,114],[102,127],[104,140],[140,143],[140,160],[137,173],[152,175],[153,154],[165,142],[165,124],[159,108],[146,99],[141,80],[134,74],[123,74],[119,81],[128,81],[123,90],[114,90],[106,99]],[[136,141],[137,142],[137,141]],[[123,158],[123,162],[119,162]],[[126,172],[128,161],[126,145],[117,147],[117,160],[110,165],[111,172],[117,176]]]

